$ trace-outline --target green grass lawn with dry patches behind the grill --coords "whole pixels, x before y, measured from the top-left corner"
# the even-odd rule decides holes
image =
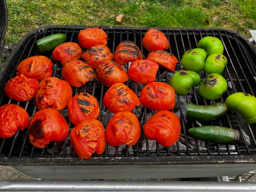
[[[7,6],[8,44],[46,25],[216,27],[247,38],[256,29],[253,0],[7,0]]]

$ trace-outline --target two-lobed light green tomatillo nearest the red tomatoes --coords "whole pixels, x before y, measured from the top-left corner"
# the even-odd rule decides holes
[[[186,95],[191,87],[199,86],[201,77],[194,71],[181,70],[176,72],[170,80],[176,95]]]

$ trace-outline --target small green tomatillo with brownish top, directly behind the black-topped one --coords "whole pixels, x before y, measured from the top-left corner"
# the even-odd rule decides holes
[[[221,74],[227,63],[228,60],[226,59],[226,56],[223,54],[214,53],[206,58],[203,71],[208,75],[211,73]]]

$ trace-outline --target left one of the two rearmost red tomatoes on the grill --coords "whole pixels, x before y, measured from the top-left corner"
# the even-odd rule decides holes
[[[89,49],[93,45],[107,45],[107,34],[98,26],[96,28],[82,29],[78,33],[79,45],[84,49]]]

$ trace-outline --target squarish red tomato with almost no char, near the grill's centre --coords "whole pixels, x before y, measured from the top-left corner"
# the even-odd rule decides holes
[[[158,64],[154,61],[148,59],[136,60],[130,64],[128,75],[131,80],[139,84],[149,84],[155,81],[158,68]]]

